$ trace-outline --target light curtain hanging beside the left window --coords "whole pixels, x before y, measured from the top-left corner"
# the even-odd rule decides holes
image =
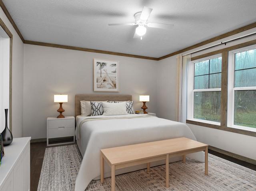
[[[187,83],[188,83],[188,64],[191,61],[191,55],[178,55],[177,64],[178,64],[178,106],[177,106],[177,120],[182,123],[186,123],[187,118]]]

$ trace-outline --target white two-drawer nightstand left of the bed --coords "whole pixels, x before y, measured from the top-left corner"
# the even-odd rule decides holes
[[[73,137],[72,142],[49,144],[52,138]],[[65,118],[47,118],[47,146],[75,143],[75,118],[67,116]]]

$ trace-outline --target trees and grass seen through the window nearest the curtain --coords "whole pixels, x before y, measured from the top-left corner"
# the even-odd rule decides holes
[[[194,118],[220,122],[222,57],[194,63]]]

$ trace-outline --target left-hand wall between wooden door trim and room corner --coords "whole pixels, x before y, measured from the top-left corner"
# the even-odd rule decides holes
[[[22,137],[23,125],[23,42],[0,8],[0,18],[13,35],[12,39],[12,134]],[[4,111],[0,111],[4,115]]]

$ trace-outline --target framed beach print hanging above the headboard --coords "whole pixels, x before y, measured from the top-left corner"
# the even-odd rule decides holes
[[[93,59],[93,90],[119,92],[119,61]]]

